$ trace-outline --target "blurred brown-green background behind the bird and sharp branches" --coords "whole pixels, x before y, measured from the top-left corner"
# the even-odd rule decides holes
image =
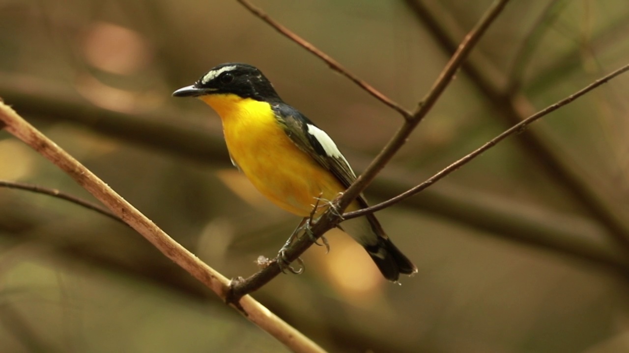
[[[408,109],[491,1],[255,4]],[[624,0],[513,0],[367,190],[423,182],[629,62]],[[259,67],[357,171],[403,119],[237,1],[0,0],[0,97],[228,277],[257,271],[297,217],[231,166],[220,120],[172,91]],[[419,268],[385,281],[342,232],[255,298],[331,352],[629,350],[629,76],[378,212]],[[6,131],[0,179],[93,200]],[[286,352],[141,236],[0,188],[2,352]]]

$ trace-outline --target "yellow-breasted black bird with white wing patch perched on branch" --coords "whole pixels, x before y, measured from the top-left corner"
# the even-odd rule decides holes
[[[252,65],[223,63],[172,95],[195,97],[214,109],[231,163],[273,204],[304,217],[302,224],[320,215],[356,179],[330,136],[286,104]],[[327,202],[320,205],[320,200]],[[366,207],[360,195],[347,210]],[[398,282],[400,274],[417,272],[374,214],[342,221],[339,227],[365,248],[387,280]]]

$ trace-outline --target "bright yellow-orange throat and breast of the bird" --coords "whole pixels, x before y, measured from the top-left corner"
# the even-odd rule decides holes
[[[345,190],[284,133],[269,103],[233,94],[201,99],[221,117],[231,158],[274,204],[306,217],[317,197],[332,200]]]

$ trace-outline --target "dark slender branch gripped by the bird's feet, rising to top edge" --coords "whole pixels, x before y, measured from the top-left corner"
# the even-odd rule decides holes
[[[352,202],[352,200],[355,199],[359,193],[367,187],[367,185],[369,185],[377,173],[384,168],[384,165],[391,160],[392,156],[398,151],[398,149],[401,148],[406,141],[406,138],[408,138],[409,134],[413,132],[413,129],[415,129],[417,124],[419,124],[421,119],[423,119],[433,104],[435,104],[438,97],[440,97],[443,90],[445,90],[445,87],[447,87],[452,80],[452,77],[454,77],[454,74],[461,63],[469,54],[470,50],[472,50],[474,45],[476,45],[477,41],[481,38],[487,27],[489,27],[489,25],[493,23],[494,19],[498,17],[498,14],[502,11],[506,3],[508,3],[508,0],[499,0],[494,2],[476,26],[467,36],[465,36],[465,39],[459,46],[459,50],[457,50],[457,53],[453,55],[450,62],[448,62],[446,67],[443,69],[441,75],[435,84],[433,84],[431,90],[419,104],[418,109],[413,114],[413,117],[404,121],[403,126],[393,136],[387,146],[382,149],[376,159],[372,161],[370,166],[367,167],[367,170],[365,170],[364,173],[362,173],[362,175],[360,175],[359,178],[347,189],[347,191],[343,193],[343,196],[337,200],[338,206],[330,207],[321,215],[320,219],[315,222],[311,229],[315,239],[318,239],[318,237],[320,237],[323,233],[335,227],[338,222],[340,222],[341,217],[335,214],[335,212],[338,212],[338,210],[344,210],[350,202]],[[286,253],[284,253],[284,257],[288,261],[295,261],[312,244],[313,242],[310,237],[301,237],[294,242],[292,247],[290,247]],[[246,295],[259,289],[275,278],[279,273],[281,273],[281,269],[277,264],[276,258],[269,263],[269,266],[261,269],[246,280],[234,283],[231,286],[230,298],[237,299],[242,295]]]

